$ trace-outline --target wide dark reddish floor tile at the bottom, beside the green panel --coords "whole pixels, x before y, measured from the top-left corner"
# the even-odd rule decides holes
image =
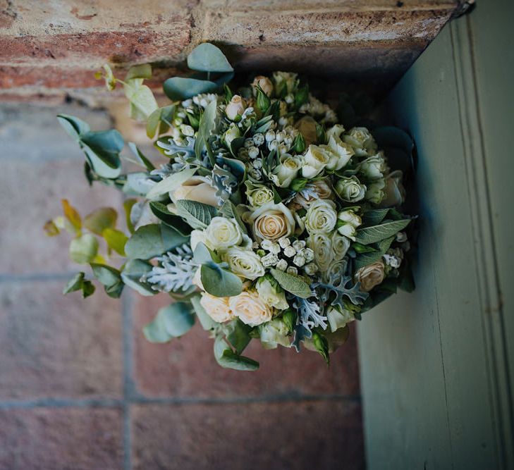
[[[364,469],[360,405],[136,406],[134,469]]]

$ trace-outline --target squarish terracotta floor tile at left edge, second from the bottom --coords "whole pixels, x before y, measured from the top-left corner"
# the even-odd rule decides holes
[[[120,304],[64,283],[0,285],[0,400],[121,397]]]

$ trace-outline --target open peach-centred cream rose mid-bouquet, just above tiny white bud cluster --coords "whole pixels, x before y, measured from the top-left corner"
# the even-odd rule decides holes
[[[295,230],[295,218],[281,202],[268,202],[254,211],[243,214],[245,222],[252,224],[253,233],[259,240],[279,240],[288,237]]]

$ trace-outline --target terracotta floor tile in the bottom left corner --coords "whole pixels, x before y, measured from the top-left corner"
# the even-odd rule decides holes
[[[117,409],[0,410],[0,422],[1,469],[122,468]]]

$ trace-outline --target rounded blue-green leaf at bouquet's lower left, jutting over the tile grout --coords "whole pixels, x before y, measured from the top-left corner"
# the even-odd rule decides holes
[[[168,342],[187,333],[195,324],[195,316],[187,302],[175,302],[159,309],[157,315],[143,328],[149,342]]]

